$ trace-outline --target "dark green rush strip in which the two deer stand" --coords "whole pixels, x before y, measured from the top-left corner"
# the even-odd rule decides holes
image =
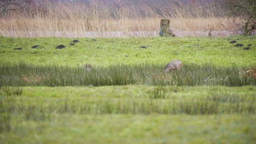
[[[113,64],[109,67],[36,66],[25,63],[0,66],[2,86],[245,86],[255,85],[254,77],[239,75],[235,65],[218,67],[212,64],[185,64],[179,71],[164,73],[162,64]]]

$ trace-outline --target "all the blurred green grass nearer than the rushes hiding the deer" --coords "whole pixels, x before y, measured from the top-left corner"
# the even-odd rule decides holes
[[[253,143],[255,90],[168,86],[154,97],[155,86],[2,87],[0,141]]]

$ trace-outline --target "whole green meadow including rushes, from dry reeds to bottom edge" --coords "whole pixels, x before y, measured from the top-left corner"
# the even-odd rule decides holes
[[[0,143],[255,143],[256,37],[72,40],[0,37]]]

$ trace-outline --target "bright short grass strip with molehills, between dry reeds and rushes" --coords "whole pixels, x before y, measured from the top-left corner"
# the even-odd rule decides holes
[[[0,63],[36,65],[68,65],[83,67],[91,63],[92,68],[113,64],[164,65],[172,59],[185,64],[211,63],[214,65],[256,65],[255,37],[186,37],[186,38],[83,38],[74,46],[67,38],[6,38],[1,37]],[[243,44],[236,47],[230,41]],[[56,49],[58,45],[63,49]],[[247,46],[252,44],[252,46]],[[38,47],[32,49],[32,46]],[[146,49],[141,46],[147,47]],[[14,50],[21,47],[22,50]],[[249,50],[243,50],[250,47]],[[162,68],[164,69],[164,68]]]

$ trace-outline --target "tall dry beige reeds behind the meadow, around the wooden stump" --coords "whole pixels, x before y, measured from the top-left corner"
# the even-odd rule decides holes
[[[171,19],[177,35],[207,35],[231,31],[234,24],[218,5],[155,2],[127,4],[34,4],[18,13],[0,17],[0,35],[5,37],[151,37],[158,35],[160,19]],[[181,33],[185,31],[185,33]],[[188,33],[189,32],[189,33]]]

